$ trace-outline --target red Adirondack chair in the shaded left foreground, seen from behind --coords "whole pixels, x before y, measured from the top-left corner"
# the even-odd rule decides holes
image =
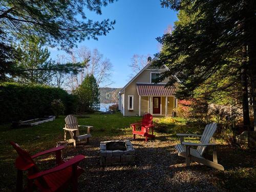
[[[34,186],[40,191],[62,191],[70,182],[73,185],[72,191],[77,191],[77,178],[83,173],[83,169],[78,166],[78,163],[84,159],[83,155],[77,155],[69,161],[65,161],[61,159],[61,150],[65,148],[64,146],[58,146],[31,156],[17,143],[11,141],[11,145],[18,153],[15,162],[17,167],[16,191],[23,190],[23,171],[25,170],[28,171],[27,191],[33,191]],[[54,152],[57,166],[40,171],[33,159]]]

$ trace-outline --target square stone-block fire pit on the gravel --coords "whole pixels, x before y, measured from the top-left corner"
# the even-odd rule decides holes
[[[135,150],[130,140],[101,141],[100,164],[135,163]]]

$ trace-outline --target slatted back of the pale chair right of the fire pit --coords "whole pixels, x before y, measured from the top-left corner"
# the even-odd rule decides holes
[[[214,136],[214,133],[217,130],[217,123],[210,123],[205,126],[204,132],[202,134],[200,143],[209,143],[212,136]],[[197,151],[202,156],[204,151],[206,149],[206,146],[198,146]]]

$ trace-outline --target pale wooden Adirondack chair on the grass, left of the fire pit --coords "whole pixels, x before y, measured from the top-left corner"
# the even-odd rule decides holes
[[[74,147],[76,147],[76,143],[80,142],[83,139],[87,139],[87,142],[89,142],[89,138],[91,137],[90,134],[90,129],[93,126],[87,126],[87,125],[78,125],[76,117],[73,115],[68,115],[65,118],[65,127],[63,128],[64,130],[64,140],[67,141],[68,143],[74,143]],[[87,127],[87,134],[80,135],[79,134],[79,127]],[[70,133],[71,139],[66,139],[67,138],[67,132]]]

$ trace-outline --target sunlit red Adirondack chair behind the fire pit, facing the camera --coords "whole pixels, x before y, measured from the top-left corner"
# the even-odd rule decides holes
[[[150,113],[147,113],[145,115],[143,115],[142,118],[142,122],[140,123],[133,123],[131,124],[131,126],[133,127],[133,138],[135,139],[136,135],[141,135],[143,137],[146,137],[146,142],[147,142],[147,138],[154,138],[155,135],[153,135],[154,133],[154,124],[153,124],[153,116]],[[140,127],[140,131],[136,131],[137,127]],[[152,130],[152,134],[150,133],[150,129]]]

